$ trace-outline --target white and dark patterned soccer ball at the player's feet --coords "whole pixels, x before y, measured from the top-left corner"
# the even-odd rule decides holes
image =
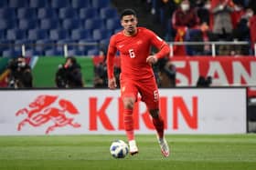
[[[128,145],[123,140],[113,141],[110,151],[114,158],[124,158],[129,153]]]

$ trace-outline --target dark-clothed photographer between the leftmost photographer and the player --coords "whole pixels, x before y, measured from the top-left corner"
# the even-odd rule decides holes
[[[55,83],[59,88],[83,87],[80,65],[73,56],[69,56],[55,76]]]

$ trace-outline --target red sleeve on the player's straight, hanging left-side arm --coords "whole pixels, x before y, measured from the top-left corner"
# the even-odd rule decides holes
[[[114,77],[113,75],[113,64],[114,64],[114,56],[116,53],[116,47],[115,47],[115,36],[112,35],[112,38],[110,40],[110,45],[108,48],[107,53],[107,69],[108,69],[108,78],[111,79]]]

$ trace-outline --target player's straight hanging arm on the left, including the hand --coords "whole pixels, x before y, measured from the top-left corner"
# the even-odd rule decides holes
[[[107,53],[107,70],[108,70],[108,86],[110,89],[116,88],[116,81],[113,74],[114,56],[116,53],[116,47],[114,45],[114,37],[112,36]]]

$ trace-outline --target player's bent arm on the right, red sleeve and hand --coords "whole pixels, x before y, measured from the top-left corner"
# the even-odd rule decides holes
[[[159,58],[163,58],[167,55],[170,55],[170,47],[165,43],[163,39],[155,35],[154,33],[151,33],[151,40],[152,44],[155,45],[155,47],[159,50],[155,55],[149,55],[146,58],[146,62],[149,65],[155,64]]]

